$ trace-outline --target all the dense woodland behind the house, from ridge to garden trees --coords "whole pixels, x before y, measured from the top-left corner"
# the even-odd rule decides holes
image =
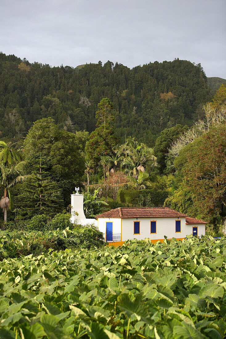
[[[65,224],[79,186],[87,217],[169,206],[225,232],[226,86],[200,64],[0,58],[0,227]]]

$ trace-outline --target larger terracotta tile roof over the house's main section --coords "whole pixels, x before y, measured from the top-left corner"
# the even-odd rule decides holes
[[[185,214],[168,207],[118,207],[99,214],[97,218],[155,218],[155,217],[186,217]]]

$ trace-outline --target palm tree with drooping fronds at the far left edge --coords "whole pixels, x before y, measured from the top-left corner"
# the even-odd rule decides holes
[[[0,200],[0,208],[4,213],[4,221],[7,221],[7,211],[12,209],[13,201],[11,198],[10,188],[19,182],[27,180],[30,176],[21,176],[22,167],[24,161],[11,166],[5,166],[3,162],[0,163],[0,189],[4,191],[4,194]]]

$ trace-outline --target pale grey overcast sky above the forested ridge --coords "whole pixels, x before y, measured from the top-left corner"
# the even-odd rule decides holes
[[[226,0],[0,0],[0,51],[76,67],[174,58],[226,79]]]

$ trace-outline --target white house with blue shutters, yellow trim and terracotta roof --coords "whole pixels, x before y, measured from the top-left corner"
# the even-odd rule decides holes
[[[203,220],[171,210],[168,207],[118,207],[96,216],[98,229],[109,245],[122,245],[128,239],[153,243],[168,239],[184,239],[187,235],[205,235]]]

